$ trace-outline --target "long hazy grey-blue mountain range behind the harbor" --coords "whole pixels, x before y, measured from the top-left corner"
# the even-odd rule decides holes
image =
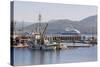
[[[75,28],[81,33],[96,33],[97,32],[97,15],[89,16],[80,21],[72,21],[68,19],[58,19],[41,23],[41,26],[45,26],[48,23],[47,32],[64,32],[67,28]],[[24,30],[31,32],[35,30],[38,23],[27,25]]]

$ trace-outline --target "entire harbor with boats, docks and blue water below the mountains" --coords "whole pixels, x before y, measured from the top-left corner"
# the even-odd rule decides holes
[[[97,34],[82,34],[75,28],[48,34],[48,23],[41,27],[41,14],[38,15],[38,20],[39,23],[31,34],[24,31],[24,25],[22,25],[22,33],[16,32],[16,28],[14,28],[11,36],[13,65],[42,65],[97,60]]]

